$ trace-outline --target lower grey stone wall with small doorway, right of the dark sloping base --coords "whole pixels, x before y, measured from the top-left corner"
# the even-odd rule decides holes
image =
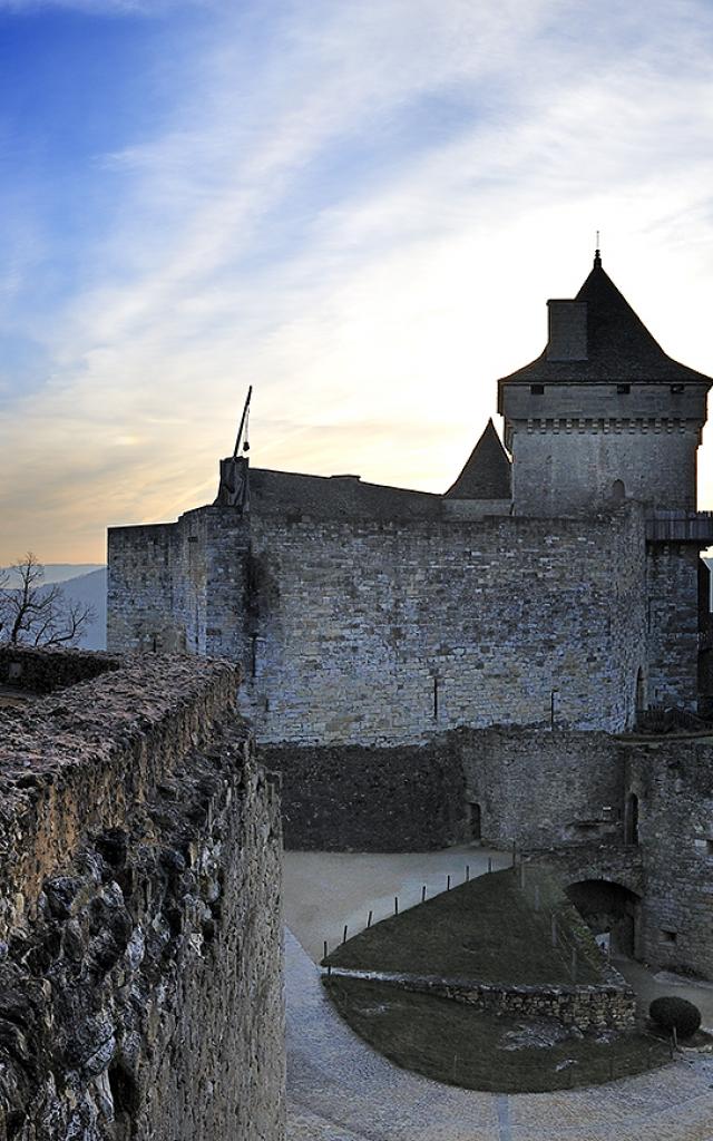
[[[494,728],[454,734],[453,747],[485,842],[549,848],[621,835],[624,772],[607,734]]]

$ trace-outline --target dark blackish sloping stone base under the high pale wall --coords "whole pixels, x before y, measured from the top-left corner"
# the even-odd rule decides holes
[[[282,775],[285,848],[427,851],[469,839],[463,774],[445,739],[364,748],[260,745]]]

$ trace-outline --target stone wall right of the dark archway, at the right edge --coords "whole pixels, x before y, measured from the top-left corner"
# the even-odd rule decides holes
[[[626,756],[646,868],[642,957],[713,978],[713,744],[631,742]]]

